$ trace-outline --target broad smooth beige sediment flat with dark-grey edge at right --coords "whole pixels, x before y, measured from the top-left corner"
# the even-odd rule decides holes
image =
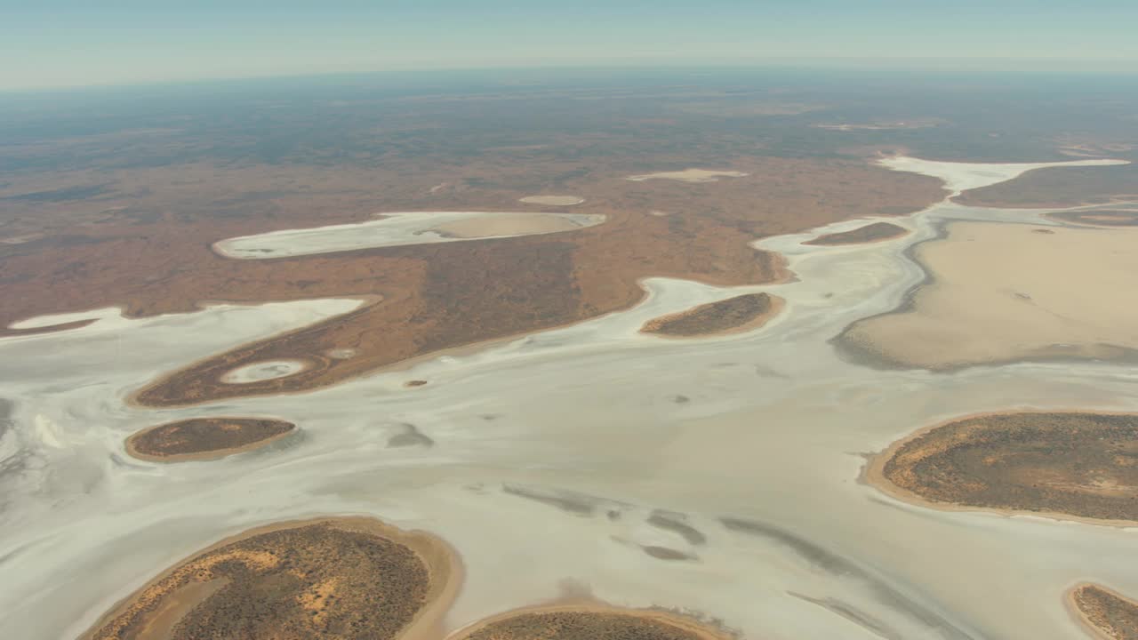
[[[926,369],[1138,348],[1138,229],[954,222],[916,247],[929,273],[912,302],[851,325],[840,340],[888,364]]]

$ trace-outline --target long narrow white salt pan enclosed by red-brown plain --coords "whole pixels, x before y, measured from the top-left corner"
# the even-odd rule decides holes
[[[286,229],[214,243],[225,257],[266,260],[431,243],[457,243],[558,233],[593,227],[605,216],[587,213],[406,212],[379,220],[311,229]]]

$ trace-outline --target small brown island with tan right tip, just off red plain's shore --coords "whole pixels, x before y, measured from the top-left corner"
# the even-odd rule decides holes
[[[778,314],[783,298],[745,294],[649,320],[641,333],[668,337],[714,336],[757,329]]]

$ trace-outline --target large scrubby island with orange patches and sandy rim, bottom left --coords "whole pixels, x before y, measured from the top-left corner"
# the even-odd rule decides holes
[[[83,640],[391,640],[438,622],[457,567],[440,540],[370,518],[283,523],[175,565]]]

